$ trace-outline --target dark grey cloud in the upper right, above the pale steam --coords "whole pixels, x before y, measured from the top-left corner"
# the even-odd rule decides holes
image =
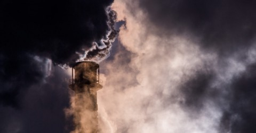
[[[148,18],[146,25],[154,25],[159,34],[196,37],[203,48],[222,54],[250,46],[255,39],[254,1],[141,0],[138,4]]]

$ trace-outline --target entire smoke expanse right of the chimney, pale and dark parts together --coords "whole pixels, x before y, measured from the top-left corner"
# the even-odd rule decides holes
[[[107,132],[255,132],[254,1],[115,1]],[[102,70],[102,69],[101,69]]]

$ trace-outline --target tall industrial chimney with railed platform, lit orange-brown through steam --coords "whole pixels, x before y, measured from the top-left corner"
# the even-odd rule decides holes
[[[75,130],[79,133],[97,133],[99,131],[97,91],[102,88],[99,64],[93,61],[76,63],[72,68],[69,87],[75,92],[73,108]]]

